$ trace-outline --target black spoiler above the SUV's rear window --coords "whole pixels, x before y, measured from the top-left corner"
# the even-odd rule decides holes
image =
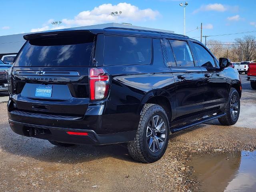
[[[39,33],[32,33],[32,34],[26,34],[23,36],[25,40],[33,40],[37,38],[47,38],[47,37],[61,37],[61,36],[69,36],[74,34],[82,34],[82,33],[88,33],[89,35],[95,36],[99,33],[104,33],[102,29],[90,29],[90,30],[53,30],[53,31],[46,31],[46,32],[39,32]]]

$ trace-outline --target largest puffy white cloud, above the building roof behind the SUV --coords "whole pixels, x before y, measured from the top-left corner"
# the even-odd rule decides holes
[[[112,4],[102,4],[98,7],[94,7],[92,10],[85,10],[78,13],[74,18],[64,18],[62,19],[62,24],[58,26],[60,28],[68,28],[75,26],[86,26],[94,24],[102,24],[107,22],[116,22],[116,16],[111,16],[110,12],[122,11],[122,14],[118,16],[118,21],[120,22],[132,22],[132,21],[146,21],[155,20],[159,16],[159,12],[152,10],[150,8],[140,9],[129,3],[118,3],[116,5]],[[42,30],[52,30],[56,27],[51,28],[51,23],[53,19],[45,22],[41,28],[31,29],[31,32],[37,32]]]

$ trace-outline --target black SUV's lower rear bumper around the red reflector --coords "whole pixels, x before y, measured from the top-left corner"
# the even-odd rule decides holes
[[[96,134],[94,130],[70,129],[53,126],[27,124],[9,119],[11,129],[20,135],[53,140],[71,144],[105,145],[129,142],[134,139],[136,131],[118,132],[112,134]],[[86,132],[88,136],[69,135],[67,132]]]

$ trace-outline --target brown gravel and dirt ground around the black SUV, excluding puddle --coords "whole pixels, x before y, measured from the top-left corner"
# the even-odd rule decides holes
[[[236,126],[213,121],[172,134],[165,155],[152,164],[135,162],[119,144],[61,148],[14,134],[6,102],[0,103],[0,191],[200,191],[185,165],[192,156],[256,149],[256,94],[241,77],[242,111]]]

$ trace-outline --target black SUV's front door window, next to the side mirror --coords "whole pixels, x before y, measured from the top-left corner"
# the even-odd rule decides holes
[[[198,65],[202,67],[215,67],[214,58],[211,54],[200,44],[194,42],[193,44],[198,59]]]

